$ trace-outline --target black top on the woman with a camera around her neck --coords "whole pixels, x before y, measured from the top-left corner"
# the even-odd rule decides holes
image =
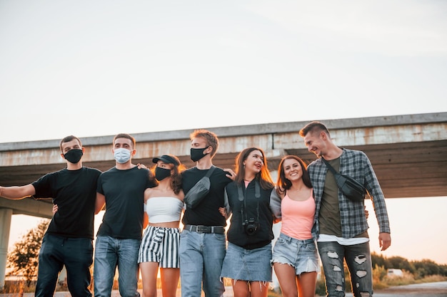
[[[254,179],[245,189],[243,185],[243,199],[240,201],[236,182],[231,182],[226,186],[228,204],[232,212],[231,223],[227,232],[227,239],[236,246],[244,249],[256,249],[271,243],[273,239],[273,215],[270,210],[270,195],[275,189],[261,189],[261,197],[255,197]],[[241,211],[243,210],[243,212]],[[253,218],[258,222],[258,230],[253,235],[248,235],[242,225],[245,220]]]

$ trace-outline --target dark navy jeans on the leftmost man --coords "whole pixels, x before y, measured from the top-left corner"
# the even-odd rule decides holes
[[[36,297],[53,296],[59,273],[65,265],[71,296],[90,297],[90,266],[93,243],[89,238],[69,238],[45,234],[39,252]]]

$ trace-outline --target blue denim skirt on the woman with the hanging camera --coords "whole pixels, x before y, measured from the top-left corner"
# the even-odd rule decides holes
[[[271,244],[243,249],[228,242],[221,278],[235,281],[271,281]]]

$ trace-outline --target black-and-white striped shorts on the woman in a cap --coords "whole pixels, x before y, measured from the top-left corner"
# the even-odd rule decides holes
[[[148,226],[144,231],[138,263],[158,262],[160,268],[180,268],[179,228]]]

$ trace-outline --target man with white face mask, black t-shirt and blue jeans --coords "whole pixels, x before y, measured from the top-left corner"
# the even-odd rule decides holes
[[[144,217],[144,191],[156,186],[151,172],[132,164],[135,139],[121,133],[114,137],[115,167],[103,172],[96,189],[96,214],[106,205],[106,212],[96,237],[94,257],[95,296],[111,296],[116,267],[119,293],[139,296],[138,252]]]

